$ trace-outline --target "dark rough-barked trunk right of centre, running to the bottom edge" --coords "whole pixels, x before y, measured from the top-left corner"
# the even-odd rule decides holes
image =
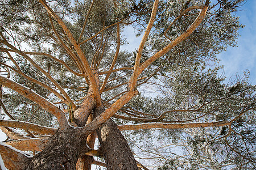
[[[93,116],[98,116],[104,111],[105,109],[103,107],[97,107],[94,109]],[[106,121],[101,128],[97,130],[97,135],[102,154],[107,164],[107,169],[138,169],[126,139],[111,119]]]

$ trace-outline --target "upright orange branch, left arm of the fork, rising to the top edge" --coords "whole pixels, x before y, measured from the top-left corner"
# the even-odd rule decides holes
[[[151,28],[153,27],[153,24],[155,22],[155,16],[156,16],[156,11],[158,9],[158,0],[155,0],[153,8],[152,8],[152,13],[150,16],[150,21],[148,22],[146,31],[144,32],[144,35],[142,37],[141,43],[139,44],[137,56],[135,59],[135,65],[134,65],[134,71],[133,71],[133,76],[131,76],[131,79],[129,80],[129,89],[133,90],[135,88],[135,85],[137,83],[137,78],[139,76],[139,65],[141,64],[141,56],[142,56],[142,51],[144,48],[144,45],[147,41],[147,38],[150,34]]]

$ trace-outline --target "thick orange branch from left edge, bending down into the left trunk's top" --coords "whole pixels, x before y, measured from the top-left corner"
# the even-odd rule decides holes
[[[6,86],[18,92],[20,95],[26,97],[27,99],[34,101],[36,104],[40,105],[40,107],[42,107],[44,110],[56,116],[61,130],[64,130],[69,126],[65,113],[61,111],[59,108],[57,108],[54,104],[44,99],[44,97],[36,94],[36,92],[22,86],[21,84],[13,82],[13,80],[7,79],[3,76],[0,76],[0,83],[3,84],[3,86]]]

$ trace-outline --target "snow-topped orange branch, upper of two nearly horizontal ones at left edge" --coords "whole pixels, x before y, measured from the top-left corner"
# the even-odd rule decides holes
[[[40,134],[51,134],[51,135],[55,134],[57,131],[57,128],[49,128],[45,126],[32,124],[29,122],[13,121],[13,120],[0,120],[0,126],[20,128],[24,130],[36,131],[37,133],[40,133]]]

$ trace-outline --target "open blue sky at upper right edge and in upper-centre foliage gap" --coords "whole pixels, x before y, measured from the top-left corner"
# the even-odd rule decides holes
[[[240,23],[245,28],[240,29],[238,37],[238,47],[229,47],[226,52],[218,54],[221,59],[220,65],[225,66],[225,76],[227,80],[236,74],[242,75],[243,71],[250,71],[250,83],[256,83],[256,1],[248,0],[236,16],[240,17]],[[125,37],[129,45],[122,46],[121,49],[134,50],[138,49],[141,37],[136,38],[132,27],[125,28]]]

